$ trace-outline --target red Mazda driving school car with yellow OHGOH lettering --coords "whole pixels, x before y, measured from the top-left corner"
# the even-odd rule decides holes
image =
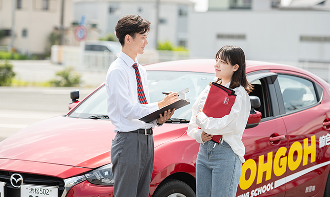
[[[193,104],[215,77],[214,60],[145,68],[151,101],[162,99],[162,92],[189,87],[186,96]],[[247,61],[246,73],[255,87],[251,100],[260,103],[253,104],[257,111],[251,110],[243,134],[246,162],[236,196],[330,196],[330,85],[292,66]],[[149,197],[195,197],[199,144],[186,133],[192,104],[154,130]],[[0,142],[1,197],[113,196],[115,133],[104,84],[73,105],[67,114]]]

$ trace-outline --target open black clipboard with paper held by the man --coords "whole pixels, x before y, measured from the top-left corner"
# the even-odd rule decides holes
[[[189,88],[179,91],[178,92],[178,94],[179,94],[178,101],[173,102],[172,104],[166,105],[165,107],[162,107],[161,109],[159,109],[155,112],[152,112],[152,113],[140,118],[139,120],[149,123],[153,120],[158,119],[160,117],[159,114],[164,114],[164,112],[167,111],[168,109],[175,108],[175,110],[177,110],[177,109],[180,109],[181,107],[184,107],[184,106],[190,104],[190,99],[186,99],[187,92],[189,92]]]

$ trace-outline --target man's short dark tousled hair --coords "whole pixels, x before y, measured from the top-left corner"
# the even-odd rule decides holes
[[[135,38],[135,33],[146,33],[150,30],[150,22],[139,15],[125,15],[119,19],[115,31],[122,46],[125,44],[127,34]]]

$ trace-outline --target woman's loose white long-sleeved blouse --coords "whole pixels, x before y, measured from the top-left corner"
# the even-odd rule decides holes
[[[225,87],[229,88],[230,83]],[[235,89],[236,99],[231,107],[230,114],[222,118],[207,117],[199,108],[203,108],[210,86],[208,85],[199,95],[192,108],[192,117],[188,127],[188,135],[196,139],[198,143],[203,143],[201,139],[202,131],[211,135],[222,135],[235,154],[239,156],[242,163],[245,162],[245,147],[242,142],[243,131],[249,118],[251,103],[244,87]],[[197,116],[196,116],[197,115]],[[198,129],[201,128],[201,129]]]

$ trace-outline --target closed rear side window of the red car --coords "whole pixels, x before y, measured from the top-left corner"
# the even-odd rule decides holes
[[[298,76],[278,74],[285,112],[308,107],[318,102],[313,82]]]

